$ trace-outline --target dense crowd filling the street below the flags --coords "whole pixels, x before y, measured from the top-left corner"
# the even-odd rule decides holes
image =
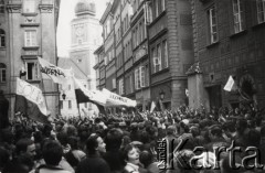
[[[246,173],[264,172],[264,112],[236,108],[176,110],[99,115],[96,118],[56,117],[42,125],[17,115],[0,131],[1,173]],[[167,141],[167,161],[161,165],[158,141]],[[186,141],[178,148],[181,141]],[[242,151],[258,149],[257,159],[235,169],[231,155],[216,155],[214,148],[234,142]],[[208,165],[193,169],[190,160],[203,155],[195,147],[206,149]],[[178,150],[176,150],[176,148]],[[252,151],[253,152],[253,151]],[[234,165],[250,153],[236,152]],[[203,160],[203,158],[201,158]],[[204,161],[204,160],[203,160]],[[198,159],[200,164],[203,161]],[[255,163],[254,163],[255,162]],[[256,164],[257,163],[257,164]],[[202,163],[202,165],[204,165]],[[246,166],[255,165],[252,169]]]

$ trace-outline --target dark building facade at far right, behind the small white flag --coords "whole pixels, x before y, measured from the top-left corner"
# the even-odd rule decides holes
[[[188,72],[192,107],[265,106],[264,9],[263,0],[192,0],[195,65]],[[223,89],[230,76],[235,91]]]

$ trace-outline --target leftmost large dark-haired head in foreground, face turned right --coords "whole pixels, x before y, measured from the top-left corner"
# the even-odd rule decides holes
[[[18,155],[28,153],[30,156],[34,158],[36,154],[35,153],[35,144],[29,138],[20,139],[15,144],[15,151],[17,151]]]

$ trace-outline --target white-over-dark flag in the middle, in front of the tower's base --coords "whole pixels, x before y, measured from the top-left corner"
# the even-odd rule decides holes
[[[95,104],[102,113],[105,112],[106,97],[100,90],[87,90],[82,83],[73,77],[75,96],[77,104],[92,102]]]

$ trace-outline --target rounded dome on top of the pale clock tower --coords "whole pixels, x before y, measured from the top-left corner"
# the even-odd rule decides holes
[[[95,2],[93,2],[92,0],[80,0],[75,7],[75,14],[77,17],[83,14],[95,15]]]

